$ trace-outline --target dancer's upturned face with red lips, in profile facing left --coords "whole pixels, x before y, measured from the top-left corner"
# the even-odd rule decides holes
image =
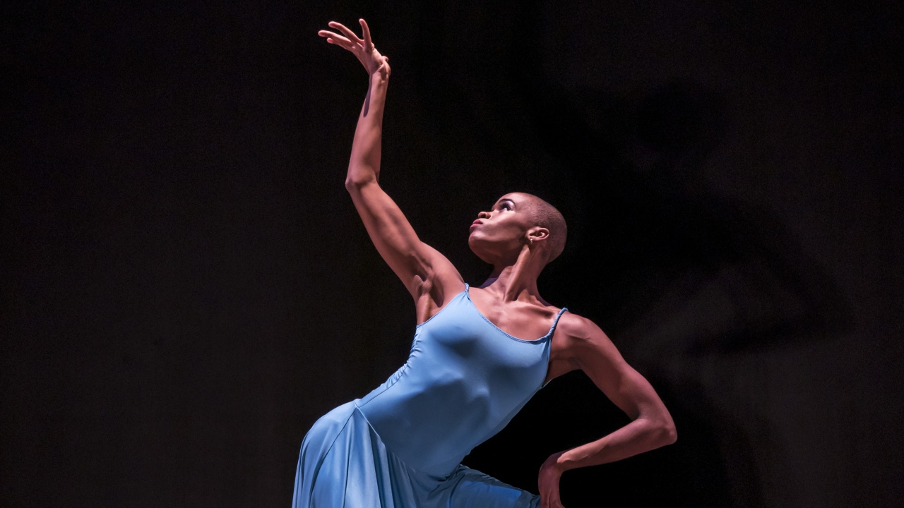
[[[490,264],[510,263],[527,242],[533,226],[530,196],[508,193],[493,208],[477,214],[467,244],[478,258]]]

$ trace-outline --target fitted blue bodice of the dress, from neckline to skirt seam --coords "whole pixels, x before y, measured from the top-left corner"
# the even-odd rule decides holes
[[[555,323],[513,336],[483,315],[463,284],[418,325],[408,361],[355,405],[407,465],[445,475],[541,389]]]

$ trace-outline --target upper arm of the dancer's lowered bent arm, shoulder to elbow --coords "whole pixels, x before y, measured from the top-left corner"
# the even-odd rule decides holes
[[[673,425],[668,409],[645,377],[628,365],[614,343],[589,319],[572,315],[570,358],[631,419]]]

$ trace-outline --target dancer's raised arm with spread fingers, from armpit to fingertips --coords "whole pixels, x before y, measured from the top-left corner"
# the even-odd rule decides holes
[[[359,21],[363,37],[336,22],[329,26],[337,32],[319,32],[326,42],[352,52],[370,79],[354,131],[345,188],[377,251],[414,297],[422,321],[431,307],[442,306],[450,293],[463,287],[462,278],[448,259],[419,240],[399,206],[380,187],[383,107],[391,70],[389,59],[373,46],[367,23]]]

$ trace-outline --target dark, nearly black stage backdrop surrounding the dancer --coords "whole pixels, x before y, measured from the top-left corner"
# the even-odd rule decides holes
[[[408,355],[344,191],[391,56],[381,183],[466,281],[502,193],[570,222],[544,297],[679,440],[567,506],[892,506],[904,477],[899,2],[3,7],[0,504],[288,506],[306,429]],[[818,6],[817,6],[818,5]],[[466,464],[535,490],[625,418],[582,374]]]

